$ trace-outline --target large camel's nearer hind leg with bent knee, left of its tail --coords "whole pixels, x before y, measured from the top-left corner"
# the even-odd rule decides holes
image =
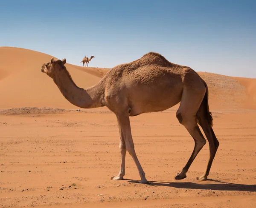
[[[193,160],[195,160],[198,152],[203,148],[206,143],[206,140],[204,139],[204,136],[201,133],[196,121],[198,108],[201,105],[204,94],[204,87],[183,89],[180,107],[177,110],[176,117],[179,122],[184,125],[185,128],[189,131],[189,134],[193,137],[195,141],[195,147],[191,157],[182,169],[182,172],[175,177],[176,180],[186,178],[186,172],[189,170],[189,167],[192,164]]]

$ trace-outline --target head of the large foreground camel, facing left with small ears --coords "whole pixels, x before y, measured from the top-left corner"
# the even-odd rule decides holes
[[[49,77],[54,77],[57,70],[63,68],[64,64],[66,63],[66,59],[61,60],[54,60],[52,58],[50,62],[44,63],[41,66],[41,71],[47,74]]]

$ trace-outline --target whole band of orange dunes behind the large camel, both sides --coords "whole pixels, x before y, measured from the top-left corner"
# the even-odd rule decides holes
[[[51,55],[23,48],[0,47],[0,109],[76,108],[65,100],[53,81],[40,71],[41,65],[51,57]],[[84,68],[68,63],[66,67],[75,83],[82,88],[94,85],[109,70],[108,68]],[[208,84],[211,109],[240,107],[256,109],[255,79],[198,73]]]

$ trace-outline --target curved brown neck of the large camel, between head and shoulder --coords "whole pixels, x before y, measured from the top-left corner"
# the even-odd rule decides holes
[[[63,96],[73,105],[80,108],[103,106],[104,86],[101,82],[87,89],[79,88],[65,68],[58,70],[58,74],[54,77],[53,81]]]

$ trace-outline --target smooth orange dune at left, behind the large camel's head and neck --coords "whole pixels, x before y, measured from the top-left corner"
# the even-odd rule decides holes
[[[0,109],[76,108],[67,102],[53,81],[40,71],[42,64],[51,57],[23,48],[0,47]],[[100,80],[87,73],[83,67],[67,63],[67,68],[79,87],[87,88]]]

